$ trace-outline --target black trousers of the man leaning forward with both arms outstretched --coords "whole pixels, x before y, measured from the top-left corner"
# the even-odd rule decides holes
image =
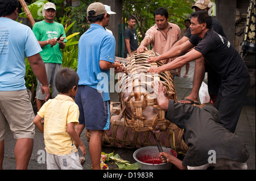
[[[222,81],[215,107],[220,114],[220,124],[234,133],[250,87],[250,75]]]

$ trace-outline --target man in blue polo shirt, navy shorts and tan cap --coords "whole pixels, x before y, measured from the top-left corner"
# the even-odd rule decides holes
[[[79,106],[80,135],[85,128],[91,132],[89,151],[92,168],[100,169],[101,138],[104,130],[110,129],[109,115],[109,77],[110,68],[122,70],[122,65],[115,62],[115,39],[105,30],[107,11],[102,3],[88,6],[87,19],[90,28],[79,40],[77,74],[79,86],[75,102]]]

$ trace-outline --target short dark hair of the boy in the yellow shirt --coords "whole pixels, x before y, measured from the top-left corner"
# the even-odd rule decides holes
[[[65,94],[68,93],[74,86],[78,86],[79,83],[79,75],[76,71],[63,68],[60,69],[55,78],[55,86],[58,92]]]

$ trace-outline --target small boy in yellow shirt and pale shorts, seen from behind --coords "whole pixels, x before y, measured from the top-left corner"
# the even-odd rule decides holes
[[[75,146],[76,142],[82,155],[86,154],[85,145],[75,131],[75,125],[79,124],[79,107],[74,101],[79,75],[69,68],[63,68],[56,74],[55,83],[60,94],[49,99],[34,118],[34,124],[44,133],[47,169],[82,170]]]

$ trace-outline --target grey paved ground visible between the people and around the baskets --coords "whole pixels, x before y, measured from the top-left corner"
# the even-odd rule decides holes
[[[191,62],[188,77],[184,78],[185,66],[181,69],[181,77],[175,77],[175,88],[177,92],[177,100],[185,98],[189,95],[193,86],[193,71],[194,62]],[[207,82],[207,77],[204,79]],[[110,98],[114,102],[119,102],[118,95],[116,93],[110,94]],[[250,157],[247,161],[248,169],[255,170],[255,86],[250,89],[247,96],[247,104],[242,109],[240,120],[238,121],[236,134],[246,143],[246,148],[250,151]],[[254,104],[253,104],[254,103]],[[81,134],[81,139],[86,145],[87,154],[85,156],[85,163],[83,164],[84,170],[90,170],[91,162],[89,155],[89,144],[85,135],[85,131]],[[14,158],[14,146],[16,140],[13,138],[13,134],[10,129],[7,132],[5,138],[5,158],[3,161],[3,169],[15,169],[15,158]],[[36,129],[36,136],[34,139],[34,149],[32,151],[31,159],[28,165],[29,170],[45,170],[46,163],[44,159],[44,139],[43,134]],[[79,150],[80,151],[80,150]],[[135,150],[122,149],[122,148],[110,148],[103,147],[102,151],[105,153],[118,153],[122,159],[134,163],[133,153]],[[80,152],[81,155],[81,152]],[[109,165],[110,170],[117,169],[115,164]]]

